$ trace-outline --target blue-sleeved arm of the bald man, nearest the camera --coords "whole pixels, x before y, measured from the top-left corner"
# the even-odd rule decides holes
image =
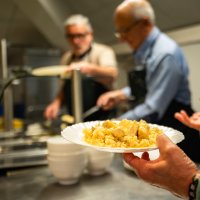
[[[147,69],[147,94],[145,101],[120,118],[141,119],[157,113],[161,118],[174,99],[182,79],[182,73],[173,56],[165,56],[153,72]],[[151,68],[151,66],[150,66]]]

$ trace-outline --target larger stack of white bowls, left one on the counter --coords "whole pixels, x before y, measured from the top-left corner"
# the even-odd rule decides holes
[[[49,138],[47,149],[49,168],[58,182],[64,185],[77,183],[87,165],[87,149],[61,136]]]

